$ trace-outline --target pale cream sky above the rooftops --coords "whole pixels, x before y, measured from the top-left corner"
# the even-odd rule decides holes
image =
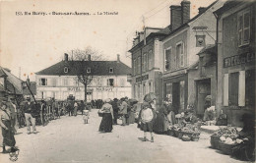
[[[0,0],[0,66],[34,81],[36,72],[63,60],[64,53],[92,47],[108,60],[131,66],[128,50],[136,30],[166,27],[170,5],[181,0]],[[190,0],[190,17],[214,0]],[[26,15],[31,13],[31,15]],[[36,15],[33,15],[35,12]],[[61,16],[78,12],[90,15]],[[104,15],[104,12],[116,15]],[[47,15],[37,15],[37,14]],[[102,13],[102,15],[100,15]],[[21,15],[22,14],[22,15]]]

